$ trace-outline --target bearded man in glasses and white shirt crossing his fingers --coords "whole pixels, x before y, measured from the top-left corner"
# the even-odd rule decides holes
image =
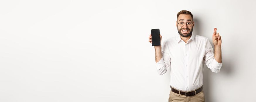
[[[154,46],[156,68],[160,75],[170,70],[169,102],[204,102],[204,64],[214,73],[219,73],[221,61],[221,36],[212,35],[213,48],[209,39],[192,34],[194,21],[190,11],[177,14],[178,36],[167,39],[163,45]],[[149,42],[151,42],[151,34]],[[160,39],[162,36],[160,35]]]

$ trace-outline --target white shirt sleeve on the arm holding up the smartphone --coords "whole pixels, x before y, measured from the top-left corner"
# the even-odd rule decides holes
[[[157,69],[158,74],[163,75],[164,73],[166,73],[166,71],[170,68],[170,56],[168,54],[168,45],[166,44],[166,42],[163,43],[162,46],[162,58],[160,61],[156,62],[155,66]]]

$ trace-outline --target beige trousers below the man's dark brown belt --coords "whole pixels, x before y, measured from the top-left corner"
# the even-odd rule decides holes
[[[202,90],[194,96],[179,95],[177,93],[170,91],[168,102],[205,102],[204,90]]]

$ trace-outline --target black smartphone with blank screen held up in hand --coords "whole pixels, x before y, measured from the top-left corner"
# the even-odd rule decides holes
[[[151,29],[152,46],[159,46],[160,43],[160,31],[159,29]]]

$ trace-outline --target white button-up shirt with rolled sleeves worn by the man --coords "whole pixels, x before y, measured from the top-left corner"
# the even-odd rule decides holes
[[[219,73],[222,63],[214,59],[209,39],[192,34],[187,43],[180,35],[167,39],[162,45],[162,59],[155,66],[160,75],[170,70],[170,85],[181,91],[192,91],[203,85],[204,64]]]

